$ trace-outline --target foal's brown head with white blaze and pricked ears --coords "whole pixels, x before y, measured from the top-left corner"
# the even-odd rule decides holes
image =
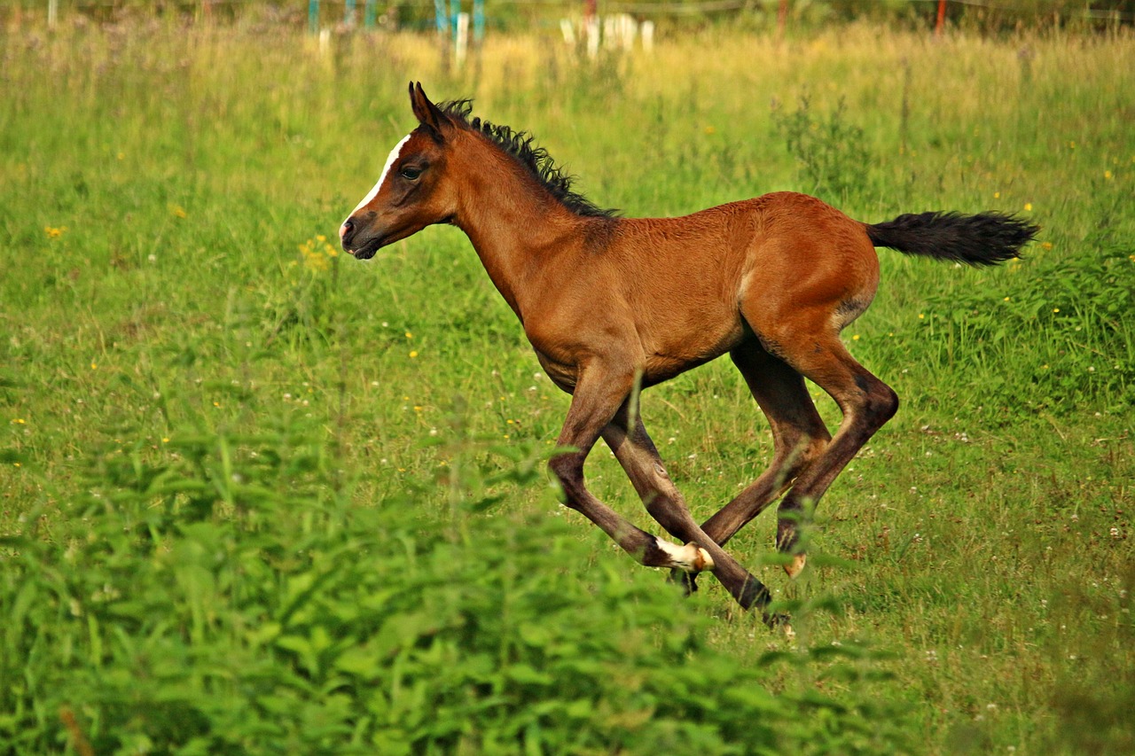
[[[429,101],[421,84],[410,85],[410,102],[418,128],[394,145],[375,188],[339,227],[343,249],[360,260],[456,212],[446,159],[449,137],[460,127]]]

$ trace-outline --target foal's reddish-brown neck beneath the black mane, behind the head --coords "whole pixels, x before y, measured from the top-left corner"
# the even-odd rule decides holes
[[[508,306],[523,320],[526,297],[532,291],[533,271],[550,254],[571,254],[582,245],[579,217],[557,200],[519,175],[491,183],[471,184],[463,208],[454,218],[477,250],[485,270]]]

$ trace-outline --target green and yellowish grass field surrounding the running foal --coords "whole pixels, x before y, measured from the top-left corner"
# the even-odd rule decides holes
[[[1135,751],[1130,36],[558,44],[0,36],[0,753]],[[731,544],[796,644],[558,506],[568,397],[459,232],[336,254],[411,78],[628,216],[792,188],[1043,226],[998,269],[881,251],[844,336],[899,414],[794,585],[772,515]],[[771,456],[728,361],[642,405],[699,518]],[[605,447],[588,473],[646,523]]]

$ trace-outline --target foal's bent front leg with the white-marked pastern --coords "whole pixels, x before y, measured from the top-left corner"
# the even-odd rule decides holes
[[[590,366],[582,371],[572,394],[571,408],[560,432],[560,446],[574,448],[557,454],[548,467],[563,487],[565,504],[599,526],[623,551],[647,566],[698,572],[713,568],[705,549],[693,544],[678,546],[634,527],[596,498],[583,485],[583,462],[634,383],[633,373]]]

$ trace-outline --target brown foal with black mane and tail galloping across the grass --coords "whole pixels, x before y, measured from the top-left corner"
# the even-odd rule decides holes
[[[823,201],[775,192],[680,218],[625,218],[573,191],[532,136],[471,118],[469,100],[436,104],[410,84],[418,120],[339,227],[359,260],[434,224],[465,233],[516,314],[545,372],[571,403],[548,462],[566,506],[634,560],[669,568],[687,589],[713,573],[770,625],[771,593],[723,546],[777,498],[776,548],[794,578],[801,519],[898,395],[859,364],[840,331],[878,287],[876,246],[989,266],[1019,257],[1039,227],[1009,215],[923,212],[865,224]],[[729,354],[768,419],[768,469],[700,526],[639,414],[641,389]],[[838,404],[832,435],[808,378]],[[632,524],[585,486],[599,438],[647,512],[678,543]]]

